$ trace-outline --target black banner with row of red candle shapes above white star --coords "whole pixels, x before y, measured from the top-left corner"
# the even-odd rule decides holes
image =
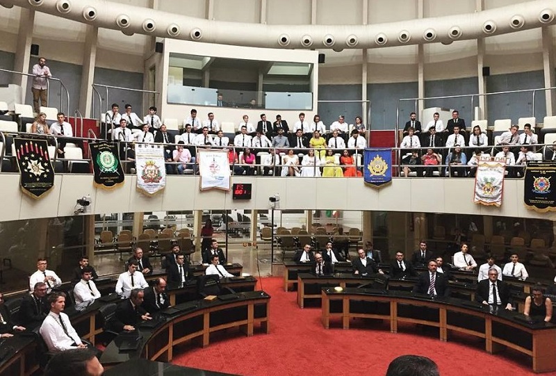
[[[48,142],[26,138],[14,138],[13,142],[19,166],[19,186],[26,195],[39,199],[54,187],[54,168],[48,155]]]

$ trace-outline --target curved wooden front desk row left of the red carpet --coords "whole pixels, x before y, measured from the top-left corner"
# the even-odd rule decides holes
[[[175,308],[183,311],[166,316],[166,321],[157,327],[138,329],[140,343],[137,350],[120,350],[130,334],[119,334],[104,350],[101,363],[111,365],[138,358],[172,361],[174,345],[198,339],[206,347],[211,333],[231,327],[239,327],[247,336],[253,335],[255,325],[260,325],[263,332],[269,332],[268,294],[252,291],[225,296],[235,298],[221,300],[218,297],[179,304]]]

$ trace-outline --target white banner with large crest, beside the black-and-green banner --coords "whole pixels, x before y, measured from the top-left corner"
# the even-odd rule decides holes
[[[137,190],[152,196],[166,186],[166,165],[163,145],[138,144],[135,146]]]

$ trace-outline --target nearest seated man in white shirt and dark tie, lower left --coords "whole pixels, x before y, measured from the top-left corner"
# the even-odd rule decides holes
[[[49,351],[58,352],[75,348],[84,349],[87,345],[81,341],[79,334],[72,327],[70,318],[63,310],[65,308],[65,293],[52,293],[48,297],[50,312],[42,325],[39,333],[47,344]]]

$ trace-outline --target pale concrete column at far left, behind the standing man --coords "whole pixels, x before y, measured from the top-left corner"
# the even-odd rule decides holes
[[[15,60],[13,63],[13,70],[15,72],[29,72],[33,24],[35,24],[35,10],[21,8],[19,32],[17,33],[17,47],[15,49]],[[12,79],[13,83],[22,87],[22,95],[24,98],[27,94],[27,79],[27,76],[22,76],[21,74],[14,74]]]

